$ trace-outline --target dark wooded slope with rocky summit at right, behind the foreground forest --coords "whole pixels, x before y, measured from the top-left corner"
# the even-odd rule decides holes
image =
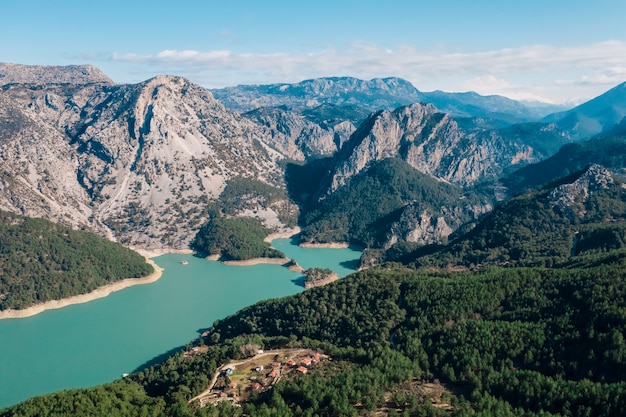
[[[624,247],[626,186],[600,165],[514,197],[416,265],[566,266]]]

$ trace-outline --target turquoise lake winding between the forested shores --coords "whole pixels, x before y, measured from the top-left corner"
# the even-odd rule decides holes
[[[354,272],[361,252],[273,246],[303,268]],[[29,397],[111,382],[197,339],[217,319],[304,290],[278,265],[226,266],[192,255],[154,258],[157,282],[24,319],[0,320],[0,408]],[[187,265],[181,261],[187,260]]]

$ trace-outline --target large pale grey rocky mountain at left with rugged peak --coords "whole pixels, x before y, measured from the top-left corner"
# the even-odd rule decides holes
[[[270,138],[183,78],[42,85],[21,74],[0,93],[0,208],[127,245],[182,248],[230,179],[284,187]],[[269,206],[255,215],[283,224]]]

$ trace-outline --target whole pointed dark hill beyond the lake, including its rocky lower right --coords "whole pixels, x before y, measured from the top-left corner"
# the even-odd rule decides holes
[[[489,208],[457,186],[388,158],[304,210],[300,238],[385,248],[398,241],[441,243]]]

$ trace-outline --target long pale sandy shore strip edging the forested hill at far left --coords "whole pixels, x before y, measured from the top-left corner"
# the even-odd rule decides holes
[[[145,256],[145,255],[144,255]],[[132,287],[133,285],[150,284],[155,282],[161,275],[163,275],[163,269],[158,266],[152,259],[146,257],[146,262],[152,265],[154,272],[147,277],[143,278],[129,278],[121,281],[116,281],[103,287],[97,288],[94,291],[87,294],[75,295],[73,297],[63,298],[62,300],[51,300],[45,303],[37,304],[32,307],[25,308],[23,310],[5,310],[0,311],[1,319],[18,319],[24,317],[31,317],[39,313],[43,313],[46,310],[54,310],[57,308],[67,307],[73,304],[82,304],[89,301],[97,300],[98,298],[104,298],[109,294],[123,290],[124,288]]]

